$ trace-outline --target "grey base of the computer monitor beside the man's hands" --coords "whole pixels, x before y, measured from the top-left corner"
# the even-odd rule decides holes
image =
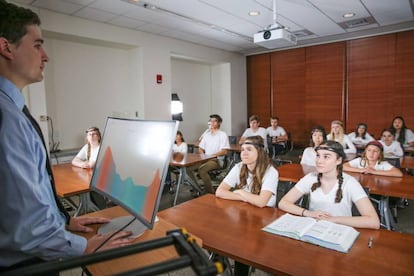
[[[119,229],[127,225],[134,218],[135,217],[133,216],[123,216],[114,218],[110,222],[103,224],[101,227],[99,227],[98,234],[106,234],[111,231],[118,231]],[[142,222],[135,218],[135,220],[130,225],[128,225],[128,227],[126,227],[124,231],[131,231],[131,236],[136,238],[144,234],[145,230],[147,229],[147,226],[145,226]]]

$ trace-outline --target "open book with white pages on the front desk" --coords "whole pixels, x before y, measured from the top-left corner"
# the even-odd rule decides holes
[[[262,230],[347,253],[359,232],[346,225],[284,214]]]

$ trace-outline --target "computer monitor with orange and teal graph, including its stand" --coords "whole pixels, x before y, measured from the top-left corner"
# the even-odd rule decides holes
[[[134,235],[153,228],[177,128],[177,121],[106,121],[90,188],[141,222],[128,228]],[[99,232],[118,230],[128,220],[112,220]]]

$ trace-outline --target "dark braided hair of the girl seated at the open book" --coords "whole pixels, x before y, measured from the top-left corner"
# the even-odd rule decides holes
[[[336,167],[338,171],[338,190],[336,191],[335,203],[339,203],[342,200],[342,184],[344,182],[344,177],[342,174],[343,165],[344,165],[345,158],[346,158],[344,148],[342,147],[340,143],[330,140],[330,141],[322,142],[320,146],[316,148],[316,151],[318,150],[329,150],[329,151],[335,152],[337,155],[337,158],[342,159],[341,163],[338,164],[338,166]],[[318,180],[311,187],[312,192],[321,186],[321,178],[322,178],[322,173],[318,173]]]

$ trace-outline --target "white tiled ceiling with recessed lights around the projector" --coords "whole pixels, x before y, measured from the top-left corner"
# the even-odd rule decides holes
[[[268,51],[253,34],[274,23],[272,0],[14,2],[242,54]],[[313,45],[414,29],[413,6],[413,0],[277,0],[276,11],[277,22],[298,34],[298,45]],[[348,12],[355,16],[344,18]],[[362,25],[350,27],[351,20]]]

